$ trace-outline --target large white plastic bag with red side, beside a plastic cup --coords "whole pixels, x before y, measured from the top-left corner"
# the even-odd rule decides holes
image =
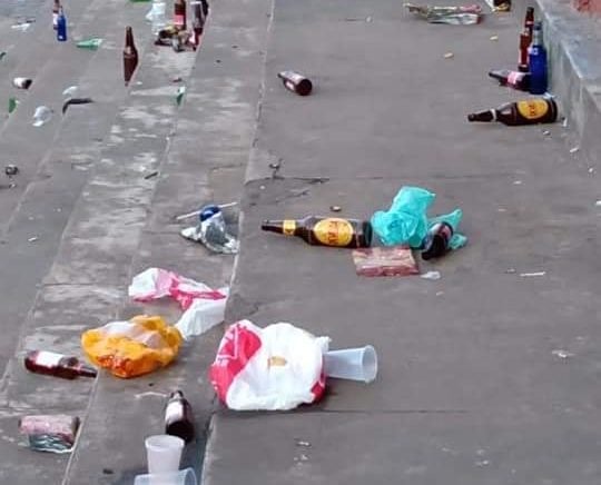
[[[325,390],[323,354],[329,337],[292,324],[259,328],[249,320],[224,335],[210,382],[230,409],[292,409],[318,400]]]

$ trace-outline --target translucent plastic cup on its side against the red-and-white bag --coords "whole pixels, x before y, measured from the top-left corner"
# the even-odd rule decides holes
[[[324,368],[328,377],[371,383],[377,374],[377,355],[371,345],[329,350],[324,354]]]

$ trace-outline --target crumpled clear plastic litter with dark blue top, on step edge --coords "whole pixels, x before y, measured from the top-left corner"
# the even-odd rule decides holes
[[[199,215],[200,224],[181,229],[186,239],[204,244],[214,253],[235,255],[239,242],[227,231],[224,215],[218,206],[205,206]]]

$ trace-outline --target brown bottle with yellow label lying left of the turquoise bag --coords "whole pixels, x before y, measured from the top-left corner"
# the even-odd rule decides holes
[[[366,220],[309,216],[300,220],[264,220],[260,228],[296,236],[314,246],[367,248],[372,244],[372,225]]]

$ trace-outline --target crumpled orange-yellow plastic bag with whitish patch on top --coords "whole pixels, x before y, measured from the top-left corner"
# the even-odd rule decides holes
[[[87,330],[81,346],[88,358],[117,377],[151,373],[171,363],[181,335],[161,317],[138,315],[129,321],[111,321]]]

